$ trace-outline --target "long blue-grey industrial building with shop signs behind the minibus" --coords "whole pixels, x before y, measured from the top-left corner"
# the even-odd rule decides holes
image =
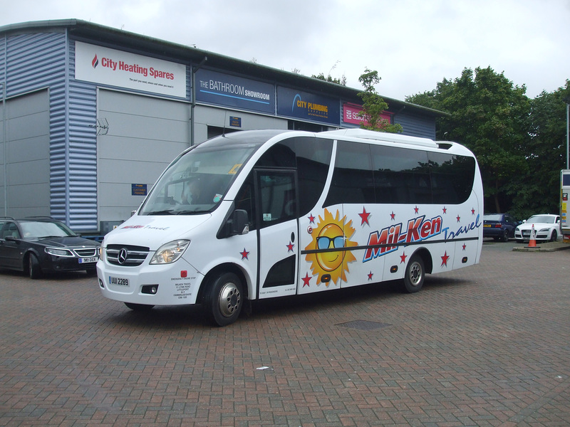
[[[354,88],[76,19],[0,27],[0,215],[104,234],[223,132],[358,127]],[[441,112],[384,98],[404,135]]]

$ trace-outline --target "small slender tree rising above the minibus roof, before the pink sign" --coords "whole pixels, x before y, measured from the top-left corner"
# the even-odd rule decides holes
[[[383,100],[376,92],[374,85],[380,83],[378,71],[368,70],[358,78],[358,81],[364,86],[364,91],[358,93],[362,99],[362,111],[358,113],[363,119],[361,128],[375,130],[377,132],[402,132],[402,126],[399,124],[392,125],[388,120],[382,117],[382,113],[388,111],[388,103]]]

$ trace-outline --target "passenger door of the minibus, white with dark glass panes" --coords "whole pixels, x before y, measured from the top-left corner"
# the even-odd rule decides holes
[[[296,172],[256,170],[259,298],[296,293],[299,268]]]

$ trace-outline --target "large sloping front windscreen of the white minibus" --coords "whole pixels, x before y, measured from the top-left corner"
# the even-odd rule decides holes
[[[140,215],[192,215],[214,210],[257,144],[200,144],[170,164]]]

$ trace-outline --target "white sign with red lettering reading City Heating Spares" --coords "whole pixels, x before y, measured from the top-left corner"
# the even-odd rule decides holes
[[[76,79],[175,97],[187,96],[186,65],[76,41]]]

